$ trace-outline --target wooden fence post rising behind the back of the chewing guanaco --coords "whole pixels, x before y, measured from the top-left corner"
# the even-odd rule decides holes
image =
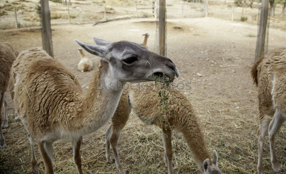
[[[49,11],[49,1],[41,0],[41,25],[43,49],[53,57],[51,17]]]

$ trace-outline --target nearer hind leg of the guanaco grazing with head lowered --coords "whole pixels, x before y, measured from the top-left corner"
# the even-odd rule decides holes
[[[111,146],[112,146],[116,167],[119,170],[119,173],[123,174],[123,173],[128,173],[128,171],[123,170],[122,164],[120,163],[118,151],[117,151],[117,143],[118,143],[118,139],[120,137],[120,134],[121,134],[121,129],[119,129],[119,130],[112,129],[112,134],[110,136],[109,141],[110,141]]]

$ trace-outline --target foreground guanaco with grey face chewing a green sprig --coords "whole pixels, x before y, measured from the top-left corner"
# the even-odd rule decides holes
[[[129,41],[108,42],[108,46],[76,42],[102,59],[97,65],[90,91],[83,95],[76,77],[41,48],[19,54],[11,68],[9,81],[15,110],[28,131],[32,150],[31,173],[38,173],[34,138],[45,164],[53,174],[53,142],[71,140],[73,161],[82,174],[80,145],[82,136],[98,130],[114,115],[123,82],[152,81],[154,73],[178,76],[175,64],[164,56]],[[150,62],[152,67],[145,66]],[[161,78],[163,80],[163,78]]]

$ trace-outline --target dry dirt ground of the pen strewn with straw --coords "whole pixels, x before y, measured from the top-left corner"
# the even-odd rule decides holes
[[[174,26],[181,29],[174,29]],[[218,18],[176,18],[167,21],[167,56],[180,71],[176,82],[191,82],[192,89],[185,94],[191,100],[196,115],[203,125],[209,149],[217,150],[219,167],[223,173],[255,173],[257,165],[258,104],[257,91],[252,84],[250,69],[254,62],[257,26]],[[92,80],[91,72],[77,70],[80,60],[74,39],[92,44],[96,36],[109,41],[129,40],[142,43],[142,34],[148,32],[147,46],[154,49],[156,22],[152,18],[118,20],[98,24],[65,24],[52,26],[54,58],[63,63],[79,79],[86,90]],[[18,52],[41,47],[38,27],[0,30],[0,42],[9,42]],[[286,45],[285,30],[270,28],[269,50]],[[91,56],[96,62],[98,57]],[[198,76],[200,73],[202,76]],[[190,93],[192,94],[190,94]],[[24,126],[14,119],[9,92],[9,127],[4,130],[8,148],[0,150],[0,173],[28,173],[31,150]],[[105,159],[104,132],[84,136],[82,163],[84,173],[118,173],[115,164]],[[276,151],[280,164],[286,168],[285,126],[276,136]],[[178,132],[173,136],[174,173],[195,173],[197,167]],[[40,173],[44,164],[38,151],[36,156]],[[160,129],[146,126],[132,114],[122,130],[118,144],[124,169],[130,173],[167,173],[163,161]],[[269,142],[265,143],[264,166],[271,169]],[[72,147],[67,140],[54,143],[55,173],[76,173],[72,162]]]

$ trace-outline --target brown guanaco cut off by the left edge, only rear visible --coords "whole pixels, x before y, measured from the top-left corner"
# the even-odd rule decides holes
[[[8,43],[0,43],[0,148],[7,147],[2,128],[8,127],[7,99],[5,91],[9,84],[10,69],[18,53]],[[4,105],[4,120],[2,120],[2,106]]]

